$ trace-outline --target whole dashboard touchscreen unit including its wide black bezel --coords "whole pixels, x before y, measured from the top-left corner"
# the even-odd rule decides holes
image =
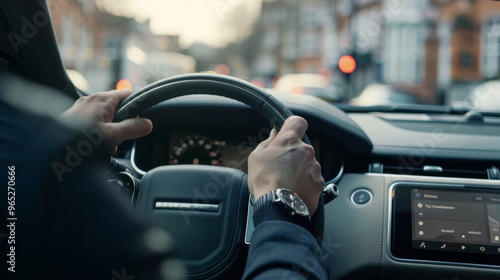
[[[391,194],[396,259],[500,265],[500,189],[401,182]]]

